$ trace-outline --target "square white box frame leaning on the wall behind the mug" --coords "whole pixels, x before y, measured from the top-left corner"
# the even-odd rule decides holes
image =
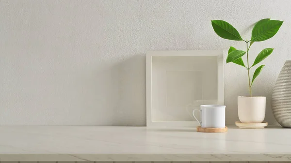
[[[185,63],[183,63],[183,61]],[[192,62],[195,64],[192,65],[191,64]],[[215,67],[213,67],[214,65]],[[201,67],[201,70],[199,69],[200,67]],[[217,75],[214,75],[213,73],[216,73]],[[207,80],[207,79],[204,79],[205,78],[204,76],[206,77],[210,76],[212,78],[211,80]],[[186,82],[186,84],[184,84],[184,82],[187,81],[186,79],[188,78],[193,79],[193,81],[189,80],[188,82]],[[185,116],[178,117],[177,115],[177,117],[175,117],[173,120],[173,116],[172,117],[161,116],[160,112],[163,111],[162,113],[164,113],[165,111],[167,111],[168,108],[166,107],[167,105],[169,105],[171,106],[171,109],[169,110],[173,112],[172,114],[176,114],[176,113],[179,114],[179,110],[172,109],[175,107],[174,106],[172,107],[172,105],[168,103],[173,103],[174,105],[180,104],[180,103],[186,104],[187,100],[189,101],[189,98],[191,97],[187,96],[187,94],[183,95],[181,93],[183,93],[184,91],[192,93],[193,89],[196,90],[196,92],[198,92],[197,95],[200,96],[200,94],[202,94],[201,104],[204,104],[203,102],[205,99],[203,99],[204,98],[203,93],[207,91],[206,89],[208,87],[205,87],[203,85],[205,83],[207,84],[207,81],[216,82],[215,84],[213,83],[211,84],[213,85],[212,87],[217,88],[217,90],[214,89],[215,93],[213,93],[216,97],[215,100],[217,100],[216,104],[224,104],[224,69],[223,69],[223,52],[222,51],[214,51],[214,50],[147,51],[146,52],[146,126],[148,127],[196,127],[198,126],[199,123],[197,121],[194,121],[194,119],[189,120],[189,118],[187,118],[187,120],[183,120]],[[201,87],[198,86],[199,83],[200,85],[202,85],[202,90],[200,90]],[[217,84],[217,87],[216,87],[216,84]],[[178,85],[177,89],[176,87],[172,87],[176,85]],[[187,86],[189,89],[187,88]],[[203,89],[203,88],[206,88],[206,89]],[[209,91],[208,91],[208,94],[211,96]],[[185,106],[186,110],[188,106],[189,105]],[[180,107],[177,107],[177,108],[180,109]],[[159,109],[161,109],[162,111]],[[191,110],[187,112],[189,112],[189,114],[191,112],[191,115],[192,115]],[[169,117],[170,117],[170,120],[168,120]],[[178,119],[178,120],[176,121],[175,119]]]

